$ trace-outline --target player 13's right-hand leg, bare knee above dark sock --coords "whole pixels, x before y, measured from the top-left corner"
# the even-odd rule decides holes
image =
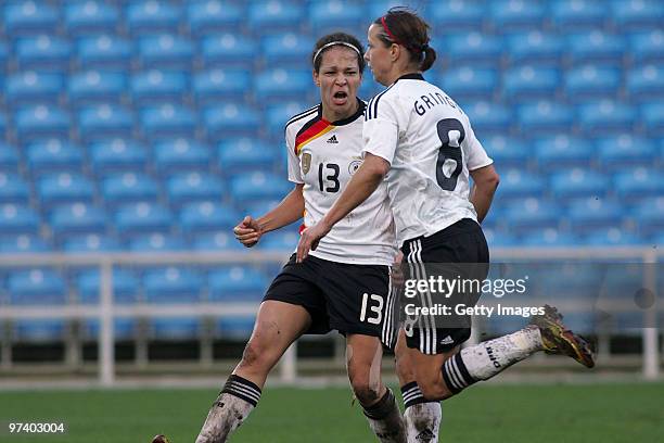
[[[378,337],[357,333],[346,337],[348,379],[369,427],[382,443],[405,443],[399,407],[392,390],[381,379],[382,357],[383,345]]]

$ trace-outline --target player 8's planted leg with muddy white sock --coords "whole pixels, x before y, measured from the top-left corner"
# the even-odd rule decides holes
[[[408,442],[437,442],[443,419],[442,405],[437,400],[429,400],[422,395],[422,391],[416,381],[414,365],[409,356],[406,334],[403,329],[399,330],[394,354],[404,400],[404,423]]]

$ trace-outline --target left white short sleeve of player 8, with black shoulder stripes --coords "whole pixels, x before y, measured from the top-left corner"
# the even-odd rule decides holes
[[[398,110],[391,98],[379,94],[369,102],[365,110],[362,127],[362,155],[369,152],[385,159],[390,164],[394,160],[399,141]]]

